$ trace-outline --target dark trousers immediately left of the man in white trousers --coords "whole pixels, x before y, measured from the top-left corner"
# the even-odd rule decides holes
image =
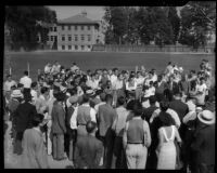
[[[112,169],[127,169],[126,156],[123,148],[123,137],[120,136],[115,137]]]

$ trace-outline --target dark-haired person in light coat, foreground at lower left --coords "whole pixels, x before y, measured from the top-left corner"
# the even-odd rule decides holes
[[[33,118],[33,128],[24,132],[22,169],[49,169],[48,156],[43,144],[42,127],[43,115],[37,114]]]

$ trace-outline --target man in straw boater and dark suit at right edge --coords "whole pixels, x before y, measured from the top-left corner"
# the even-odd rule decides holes
[[[192,173],[214,173],[215,170],[215,114],[203,110],[197,115],[193,143]]]

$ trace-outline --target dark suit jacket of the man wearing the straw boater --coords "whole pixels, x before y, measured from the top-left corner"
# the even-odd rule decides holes
[[[199,127],[194,133],[191,149],[197,163],[215,164],[215,124]]]

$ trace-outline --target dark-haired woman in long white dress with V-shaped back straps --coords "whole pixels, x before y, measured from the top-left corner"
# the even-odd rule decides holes
[[[157,154],[157,170],[175,170],[177,151],[174,141],[180,144],[181,138],[179,132],[173,121],[170,115],[163,112],[161,115],[162,128],[158,129],[158,147]]]

